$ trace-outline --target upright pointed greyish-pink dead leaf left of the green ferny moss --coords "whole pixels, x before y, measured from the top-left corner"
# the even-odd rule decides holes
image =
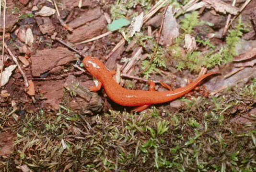
[[[172,45],[179,35],[177,21],[174,17],[173,6],[170,5],[164,14],[162,39],[165,46]]]

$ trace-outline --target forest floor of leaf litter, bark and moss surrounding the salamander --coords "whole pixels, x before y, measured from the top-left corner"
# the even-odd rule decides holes
[[[8,1],[12,10],[7,11],[6,32],[11,36],[5,42],[23,63],[29,86],[12,69],[1,87],[0,168],[256,171],[255,44],[253,36],[243,36],[255,33],[250,14],[256,2],[244,11],[249,1],[235,7],[230,1],[186,2],[63,0],[55,7],[49,1]],[[227,36],[221,37],[227,14],[238,20],[231,20]],[[130,28],[115,25],[116,31],[93,42],[74,44],[107,33],[107,16],[134,22]],[[222,75],[186,97],[137,115],[111,102],[104,91],[88,92],[93,81],[79,71],[79,55],[107,59],[109,69],[120,70],[120,84],[133,89],[147,89],[147,77],[184,86],[201,67]],[[1,64],[3,71],[16,65],[10,58]],[[126,78],[120,78],[124,71]]]

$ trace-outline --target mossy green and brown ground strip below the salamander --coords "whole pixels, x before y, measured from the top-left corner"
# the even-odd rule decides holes
[[[171,113],[152,107],[85,116],[61,107],[16,120],[5,114],[0,125],[8,124],[17,140],[14,152],[0,158],[1,171],[26,164],[36,172],[255,172],[256,116],[248,125],[230,122],[255,99],[253,80],[218,98],[183,98],[185,106]]]

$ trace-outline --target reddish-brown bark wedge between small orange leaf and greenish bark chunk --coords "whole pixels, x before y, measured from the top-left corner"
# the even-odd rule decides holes
[[[63,98],[64,80],[35,82],[39,92],[46,98],[45,102],[53,109],[58,110],[59,103]]]

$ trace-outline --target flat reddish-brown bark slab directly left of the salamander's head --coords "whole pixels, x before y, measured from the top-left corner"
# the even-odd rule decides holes
[[[38,50],[31,55],[32,75],[40,76],[50,69],[67,64],[76,60],[74,53],[67,48],[58,47],[55,49]]]

